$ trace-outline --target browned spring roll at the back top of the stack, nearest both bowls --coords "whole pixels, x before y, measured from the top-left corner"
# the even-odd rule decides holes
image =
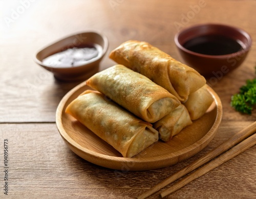
[[[150,78],[182,102],[206,83],[196,70],[147,42],[126,41],[111,52],[110,58]]]

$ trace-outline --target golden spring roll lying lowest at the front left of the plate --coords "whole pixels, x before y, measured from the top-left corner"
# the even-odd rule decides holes
[[[158,131],[97,91],[87,90],[73,100],[66,113],[98,137],[131,158],[158,141]]]

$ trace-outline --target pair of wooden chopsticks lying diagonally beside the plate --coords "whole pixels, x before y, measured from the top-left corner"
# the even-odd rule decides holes
[[[188,166],[184,167],[180,171],[169,176],[167,179],[157,184],[156,186],[152,187],[150,190],[146,191],[145,193],[139,195],[137,198],[142,199],[152,195],[153,193],[159,191],[160,189],[167,186],[168,184],[178,180],[182,176],[197,169],[198,167],[202,166],[203,164],[216,158],[221,153],[226,151],[224,154],[212,160],[211,162],[201,167],[200,169],[196,170],[195,172],[191,173],[190,175],[186,176],[186,178],[174,184],[172,187],[169,187],[168,189],[164,190],[163,192],[160,193],[160,195],[161,197],[165,197],[168,194],[173,193],[174,191],[180,189],[181,187],[185,186],[191,181],[204,175],[208,171],[218,167],[222,163],[230,160],[231,158],[237,156],[241,152],[255,145],[256,144],[256,134],[254,134],[255,131],[256,131],[256,121],[253,122],[251,125],[247,126],[246,128],[244,128],[243,130],[239,131],[237,134],[229,138],[227,141],[223,142],[221,145],[219,145],[215,149],[205,154],[205,156],[203,156],[202,158],[196,160],[195,162],[189,164]]]

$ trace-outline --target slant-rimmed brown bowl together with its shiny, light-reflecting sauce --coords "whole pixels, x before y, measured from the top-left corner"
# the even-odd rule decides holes
[[[108,38],[96,31],[62,38],[39,50],[35,62],[62,81],[86,80],[99,71],[109,47]]]

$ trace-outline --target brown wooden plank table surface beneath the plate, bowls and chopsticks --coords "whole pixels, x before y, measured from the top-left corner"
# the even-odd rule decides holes
[[[35,52],[66,35],[97,30],[110,50],[144,40],[183,61],[174,35],[199,23],[238,26],[256,40],[256,1],[0,1],[0,198],[135,198],[256,119],[230,107],[230,97],[255,77],[255,42],[242,66],[211,83],[223,105],[216,137],[184,162],[150,171],[115,172],[87,162],[61,139],[55,111],[80,82],[59,82],[34,61]],[[194,13],[194,14],[193,14]],[[189,18],[188,18],[189,17]],[[100,70],[114,64],[108,56]],[[4,195],[4,142],[8,143],[8,196]],[[256,198],[256,146],[169,195],[168,198]],[[159,198],[159,192],[150,198]]]

